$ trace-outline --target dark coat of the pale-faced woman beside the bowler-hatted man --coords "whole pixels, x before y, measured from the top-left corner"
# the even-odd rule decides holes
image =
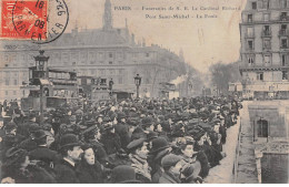
[[[101,184],[103,183],[104,175],[99,162],[96,160],[94,165],[89,165],[86,160],[81,160],[77,166],[77,176],[81,184]]]

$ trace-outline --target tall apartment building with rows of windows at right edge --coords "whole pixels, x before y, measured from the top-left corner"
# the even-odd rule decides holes
[[[248,0],[240,23],[243,96],[289,97],[289,1]]]

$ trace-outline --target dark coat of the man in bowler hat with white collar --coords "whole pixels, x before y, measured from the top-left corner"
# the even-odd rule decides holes
[[[54,172],[57,175],[57,183],[59,184],[78,184],[79,179],[77,177],[76,168],[61,159],[59,164],[56,165]]]

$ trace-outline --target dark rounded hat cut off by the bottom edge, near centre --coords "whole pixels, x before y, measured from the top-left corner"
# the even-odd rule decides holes
[[[139,184],[136,172],[131,166],[121,165],[112,169],[111,181],[113,184]]]

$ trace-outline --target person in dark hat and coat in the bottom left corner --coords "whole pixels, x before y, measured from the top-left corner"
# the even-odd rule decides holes
[[[6,153],[1,178],[11,177],[16,184],[53,184],[56,179],[43,168],[30,163],[28,152],[16,147]]]

